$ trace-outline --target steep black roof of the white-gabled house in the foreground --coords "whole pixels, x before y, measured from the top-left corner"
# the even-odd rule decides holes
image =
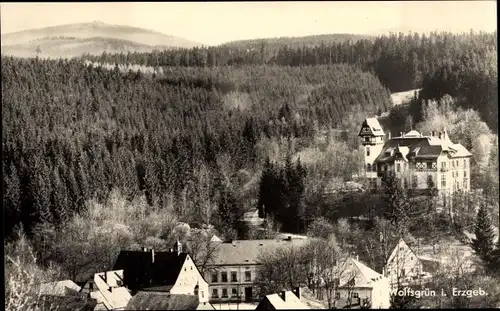
[[[174,285],[187,253],[121,251],[113,270],[123,269],[123,283],[130,290]]]

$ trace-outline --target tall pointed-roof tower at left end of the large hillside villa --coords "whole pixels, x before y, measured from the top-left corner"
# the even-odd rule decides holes
[[[362,139],[365,176],[375,182],[377,178],[377,166],[374,162],[384,147],[385,133],[376,118],[367,118],[361,125],[358,136]]]

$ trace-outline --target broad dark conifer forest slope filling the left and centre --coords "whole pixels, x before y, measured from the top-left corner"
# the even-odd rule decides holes
[[[319,129],[357,129],[391,105],[374,75],[349,65],[164,71],[2,57],[7,229],[62,224],[112,188],[154,206],[174,200],[181,220],[206,223],[206,201],[248,204],[236,183],[252,178],[266,142],[300,149]]]

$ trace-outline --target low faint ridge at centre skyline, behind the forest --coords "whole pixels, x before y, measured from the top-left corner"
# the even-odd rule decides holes
[[[302,47],[302,46],[318,46],[321,43],[340,43],[352,41],[356,42],[359,40],[373,40],[375,36],[369,35],[355,35],[355,34],[326,34],[326,35],[312,35],[303,37],[280,37],[280,38],[262,38],[262,39],[251,39],[251,40],[237,40],[223,43],[222,46],[235,47],[235,48],[260,48],[262,43],[267,46],[291,46],[291,47]]]

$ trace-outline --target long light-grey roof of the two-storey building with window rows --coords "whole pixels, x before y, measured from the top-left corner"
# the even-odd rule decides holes
[[[301,247],[306,239],[235,240],[219,243],[215,265],[257,264],[260,254],[281,247]]]

